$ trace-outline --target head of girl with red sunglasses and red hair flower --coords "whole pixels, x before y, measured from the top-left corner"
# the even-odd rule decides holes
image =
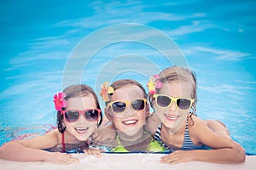
[[[57,125],[60,133],[69,133],[84,141],[102,123],[102,111],[95,92],[85,84],[73,85],[55,94]]]

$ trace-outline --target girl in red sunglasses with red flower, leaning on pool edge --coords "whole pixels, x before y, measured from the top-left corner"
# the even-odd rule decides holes
[[[34,139],[4,144],[0,148],[0,158],[60,164],[79,161],[67,153],[60,152],[88,149],[90,135],[102,123],[102,111],[96,94],[84,84],[73,85],[55,94],[54,102],[58,129]]]

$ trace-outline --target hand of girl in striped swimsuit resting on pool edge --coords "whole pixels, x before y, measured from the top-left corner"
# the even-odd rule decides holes
[[[187,161],[193,161],[194,154],[193,150],[176,150],[172,152],[170,155],[161,157],[161,163],[182,163]]]

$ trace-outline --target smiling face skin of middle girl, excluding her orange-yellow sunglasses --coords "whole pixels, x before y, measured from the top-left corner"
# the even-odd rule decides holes
[[[126,85],[114,91],[111,102],[113,101],[133,101],[135,99],[144,99],[144,94],[141,88],[136,85]],[[116,130],[125,133],[128,136],[137,134],[143,129],[143,124],[146,120],[147,109],[146,105],[143,110],[135,111],[131,105],[126,105],[125,111],[120,113],[113,113],[111,106],[107,108],[108,119],[113,122]],[[143,132],[143,131],[142,131]]]

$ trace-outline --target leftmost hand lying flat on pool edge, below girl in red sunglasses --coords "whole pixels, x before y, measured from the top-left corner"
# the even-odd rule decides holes
[[[79,159],[61,152],[49,152],[49,156],[45,159],[45,161],[49,161],[55,164],[71,164],[71,163],[78,163]]]

